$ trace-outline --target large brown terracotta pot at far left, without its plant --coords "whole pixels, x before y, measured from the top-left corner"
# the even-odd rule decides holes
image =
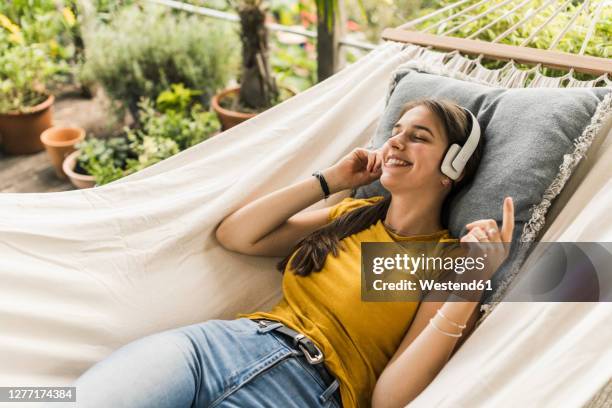
[[[0,139],[5,153],[31,154],[45,148],[40,134],[51,127],[54,100],[53,95],[49,95],[46,101],[26,113],[0,113]]]

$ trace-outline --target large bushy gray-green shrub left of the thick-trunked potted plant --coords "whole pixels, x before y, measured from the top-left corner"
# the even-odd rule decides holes
[[[236,70],[238,39],[227,23],[159,7],[127,7],[84,38],[84,77],[135,116],[141,97],[154,100],[172,83],[201,91],[207,105]]]

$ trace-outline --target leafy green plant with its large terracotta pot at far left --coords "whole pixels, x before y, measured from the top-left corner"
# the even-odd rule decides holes
[[[54,101],[46,84],[58,70],[38,44],[0,49],[0,137],[6,153],[44,149],[40,134],[51,127]]]

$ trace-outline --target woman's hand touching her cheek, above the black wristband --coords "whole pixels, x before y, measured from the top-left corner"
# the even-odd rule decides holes
[[[362,147],[353,149],[338,163],[323,171],[332,192],[370,184],[382,174],[382,152]]]

